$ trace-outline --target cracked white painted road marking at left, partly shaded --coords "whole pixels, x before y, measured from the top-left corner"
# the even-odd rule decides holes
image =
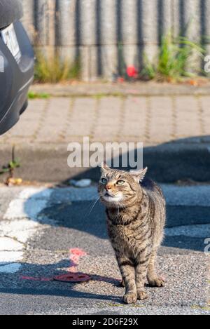
[[[10,202],[0,222],[0,272],[16,273],[21,268],[24,245],[39,227],[38,214],[47,206],[52,189],[27,188]],[[22,250],[22,251],[20,251]]]

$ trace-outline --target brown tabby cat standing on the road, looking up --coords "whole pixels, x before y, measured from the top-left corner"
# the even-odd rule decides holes
[[[165,286],[155,259],[165,227],[165,198],[158,185],[146,180],[147,168],[127,172],[102,164],[99,196],[106,206],[111,244],[123,276],[127,304],[145,300],[150,286]]]

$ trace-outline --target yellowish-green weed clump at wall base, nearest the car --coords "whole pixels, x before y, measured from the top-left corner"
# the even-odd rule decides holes
[[[40,83],[57,83],[70,79],[78,79],[80,76],[80,61],[71,64],[68,59],[62,59],[59,53],[53,55],[36,51],[36,64],[34,80]]]

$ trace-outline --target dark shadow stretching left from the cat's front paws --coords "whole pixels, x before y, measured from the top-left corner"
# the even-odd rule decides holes
[[[69,274],[68,271],[58,270],[59,268],[69,267],[69,260],[62,260],[54,264],[29,264],[20,263],[22,269],[15,274],[15,281],[18,281],[18,288],[0,288],[0,293],[12,293],[18,295],[52,295],[69,298],[83,298],[90,300],[112,300],[113,302],[122,302],[122,298],[113,295],[100,295],[100,293],[83,293],[78,290],[73,290],[75,286],[85,283],[62,283],[54,281],[53,277],[60,274]],[[0,274],[3,278],[5,274]],[[18,276],[18,277],[17,277]],[[108,276],[99,276],[90,274],[92,281],[110,283],[111,286],[121,288],[118,278]],[[7,283],[5,282],[5,287]],[[111,289],[110,289],[111,291]],[[122,293],[121,293],[122,294]]]

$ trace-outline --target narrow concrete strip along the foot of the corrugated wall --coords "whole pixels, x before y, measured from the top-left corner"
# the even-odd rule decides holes
[[[31,91],[53,97],[92,97],[92,96],[167,96],[167,95],[210,95],[210,83],[204,86],[169,83],[78,83],[75,85],[34,84]]]

